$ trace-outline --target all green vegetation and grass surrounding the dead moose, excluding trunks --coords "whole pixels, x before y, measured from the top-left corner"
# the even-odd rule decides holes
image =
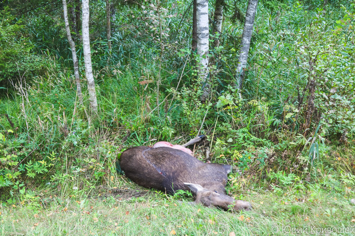
[[[90,1],[92,86],[80,0],[67,2],[77,78],[63,1],[0,0],[1,235],[354,235],[355,2],[260,0],[242,71],[248,1],[208,2],[203,54],[193,3]],[[195,156],[233,165],[227,191],[252,211],[185,204],[116,165],[200,134]]]

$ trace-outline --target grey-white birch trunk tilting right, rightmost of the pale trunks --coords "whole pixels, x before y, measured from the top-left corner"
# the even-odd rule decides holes
[[[252,35],[252,29],[254,25],[255,13],[257,9],[258,0],[249,0],[247,15],[244,23],[243,35],[242,35],[242,43],[241,49],[239,52],[239,61],[237,66],[237,77],[236,84],[238,89],[242,89],[243,80],[244,80],[244,69],[247,65],[250,40]]]

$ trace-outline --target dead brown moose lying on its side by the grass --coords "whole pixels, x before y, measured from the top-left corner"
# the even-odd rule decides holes
[[[120,166],[125,175],[143,187],[171,194],[180,189],[191,190],[195,203],[206,207],[251,209],[250,203],[226,195],[230,165],[207,164],[179,148],[182,146],[161,147],[165,142],[159,143],[152,148],[140,146],[122,152]]]

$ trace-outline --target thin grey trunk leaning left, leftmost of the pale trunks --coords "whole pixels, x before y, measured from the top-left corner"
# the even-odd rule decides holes
[[[71,47],[71,56],[72,56],[73,64],[74,64],[76,92],[77,92],[77,96],[79,98],[79,103],[81,104],[82,103],[82,93],[81,93],[81,85],[80,85],[78,59],[76,56],[75,43],[71,38],[71,31],[70,31],[69,19],[68,19],[67,1],[66,0],[62,0],[62,1],[63,1],[64,22],[65,22],[65,27],[66,27],[66,31],[67,31],[67,38],[68,38],[69,45]]]

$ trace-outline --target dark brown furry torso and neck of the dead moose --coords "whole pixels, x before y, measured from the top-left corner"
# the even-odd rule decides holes
[[[121,154],[125,175],[146,188],[168,193],[190,190],[184,182],[225,193],[229,165],[206,164],[178,149],[134,147]]]

